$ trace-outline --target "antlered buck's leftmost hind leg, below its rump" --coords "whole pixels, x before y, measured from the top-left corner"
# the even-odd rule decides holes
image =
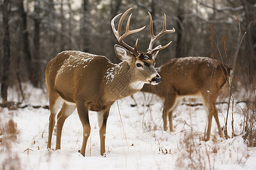
[[[55,126],[55,116],[60,106],[61,97],[57,94],[49,94],[49,110],[51,112],[49,116],[49,131],[48,131],[48,144],[47,148],[51,148],[52,132]]]

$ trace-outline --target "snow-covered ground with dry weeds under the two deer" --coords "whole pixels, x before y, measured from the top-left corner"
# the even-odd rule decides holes
[[[40,90],[39,90],[40,92]],[[47,96],[31,92],[32,105],[46,105]],[[36,98],[36,96],[39,96]],[[100,156],[97,113],[90,112],[92,128],[85,157],[79,154],[82,126],[75,111],[63,127],[61,150],[47,150],[48,109],[26,107],[15,111],[0,108],[0,125],[13,118],[19,133],[9,148],[0,145],[0,169],[256,169],[256,148],[249,148],[241,137],[244,103],[234,105],[234,131],[237,137],[228,140],[218,136],[212,122],[210,141],[200,141],[206,125],[204,108],[179,105],[174,112],[175,132],[163,131],[162,102],[158,97],[135,94],[115,102],[106,129],[106,157]],[[150,107],[143,106],[144,101]],[[198,101],[196,101],[198,102]],[[119,105],[119,111],[118,111]],[[217,105],[221,126],[224,126],[226,104]],[[230,111],[231,112],[231,111]],[[229,116],[231,117],[231,116]],[[229,120],[229,135],[231,121]],[[5,135],[0,135],[2,141]],[[55,148],[56,133],[52,147]]]

